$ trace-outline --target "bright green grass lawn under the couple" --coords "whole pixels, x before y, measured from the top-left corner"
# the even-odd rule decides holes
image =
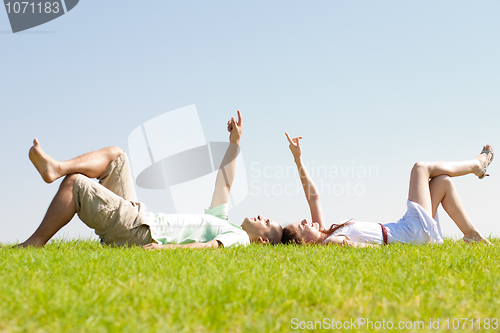
[[[452,329],[453,318],[500,319],[500,240],[492,242],[144,251],[59,241],[2,248],[0,332],[312,332],[293,330],[292,319],[304,327],[360,317],[395,326],[423,321],[418,332],[444,331],[450,318],[451,331],[464,331]],[[430,318],[440,318],[440,330],[430,330]]]

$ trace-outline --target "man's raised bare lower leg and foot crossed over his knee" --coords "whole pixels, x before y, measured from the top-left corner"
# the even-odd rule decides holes
[[[45,153],[38,139],[35,139],[29,157],[43,180],[52,183],[62,176],[73,173],[81,173],[89,178],[98,178],[106,170],[108,164],[122,153],[123,150],[118,147],[108,147],[60,162]]]

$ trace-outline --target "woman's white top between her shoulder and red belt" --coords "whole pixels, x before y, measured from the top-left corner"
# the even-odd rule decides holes
[[[360,221],[352,222],[352,224],[348,224],[335,230],[333,234],[324,240],[324,243],[328,243],[329,239],[335,236],[346,236],[350,241],[356,243],[384,243],[384,236],[382,234],[382,227],[380,224]]]

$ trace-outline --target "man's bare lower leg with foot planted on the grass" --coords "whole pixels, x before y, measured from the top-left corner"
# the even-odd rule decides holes
[[[35,233],[19,246],[44,246],[62,227],[75,216],[76,201],[73,192],[77,175],[67,176],[52,200],[42,223]]]

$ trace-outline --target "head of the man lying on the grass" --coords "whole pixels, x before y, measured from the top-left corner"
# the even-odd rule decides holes
[[[283,233],[283,229],[276,221],[263,218],[260,215],[245,218],[241,228],[246,231],[248,238],[254,243],[276,245],[280,242]]]

